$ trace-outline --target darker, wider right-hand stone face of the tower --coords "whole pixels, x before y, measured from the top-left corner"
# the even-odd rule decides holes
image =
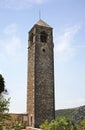
[[[52,32],[51,29],[40,27],[37,33],[44,30],[48,35],[47,42],[37,39],[35,49],[35,127],[39,127],[46,119],[51,121],[55,118]]]

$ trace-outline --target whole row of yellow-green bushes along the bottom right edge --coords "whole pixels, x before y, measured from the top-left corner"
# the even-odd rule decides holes
[[[79,124],[75,124],[73,121],[60,117],[51,121],[46,120],[40,125],[42,130],[85,130],[85,120],[82,120]]]

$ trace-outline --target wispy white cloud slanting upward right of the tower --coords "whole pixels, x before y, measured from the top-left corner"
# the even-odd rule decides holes
[[[75,48],[72,46],[72,40],[79,31],[80,26],[73,26],[64,30],[64,33],[56,37],[55,41],[55,57],[58,61],[68,60],[75,54]]]

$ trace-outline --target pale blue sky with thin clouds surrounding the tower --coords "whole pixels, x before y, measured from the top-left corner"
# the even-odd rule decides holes
[[[85,1],[0,0],[0,73],[10,112],[26,112],[28,31],[39,10],[53,27],[55,108],[85,105]]]

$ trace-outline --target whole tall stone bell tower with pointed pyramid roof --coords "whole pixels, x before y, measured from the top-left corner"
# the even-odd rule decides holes
[[[39,20],[28,36],[27,114],[29,126],[55,118],[53,34]]]

